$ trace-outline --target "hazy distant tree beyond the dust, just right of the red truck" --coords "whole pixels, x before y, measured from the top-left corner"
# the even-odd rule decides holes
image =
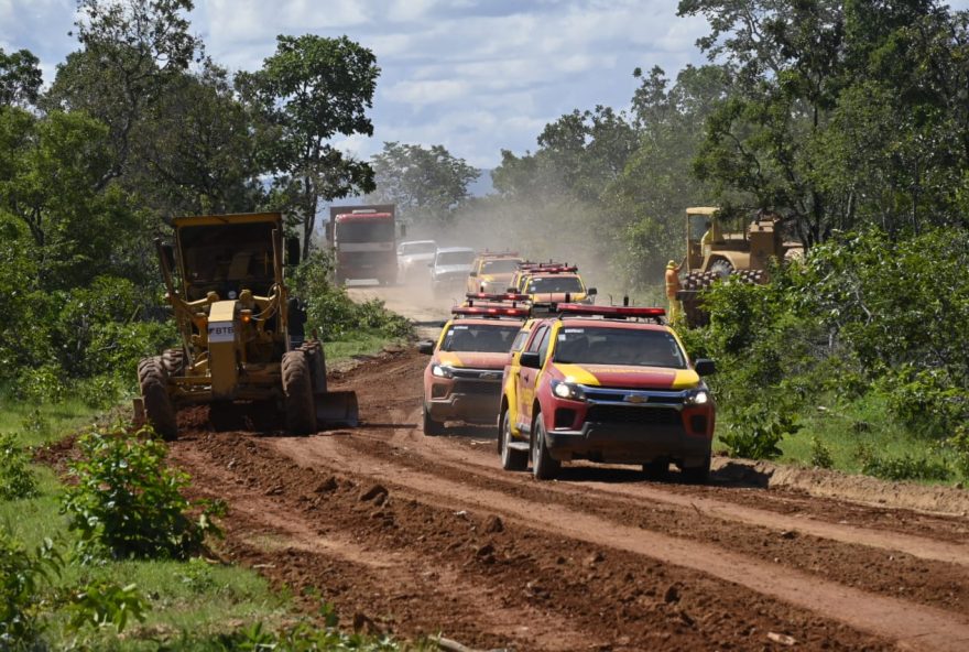
[[[385,142],[372,166],[377,191],[370,200],[396,204],[399,213],[414,224],[438,226],[454,219],[468,199],[468,184],[480,174],[444,145]]]

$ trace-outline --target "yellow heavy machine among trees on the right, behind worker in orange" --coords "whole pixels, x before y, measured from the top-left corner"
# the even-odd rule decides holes
[[[686,209],[686,275],[676,298],[686,322],[701,326],[709,315],[701,307],[701,293],[719,279],[734,275],[748,283],[766,283],[772,259],[783,262],[803,252],[799,242],[785,242],[781,220],[760,211],[739,232],[725,231],[720,208]]]

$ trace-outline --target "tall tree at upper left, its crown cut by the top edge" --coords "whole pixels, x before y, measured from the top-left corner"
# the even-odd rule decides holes
[[[126,172],[145,111],[200,56],[202,42],[183,15],[192,9],[192,0],[78,0],[83,50],[57,66],[45,106],[85,110],[108,126],[115,163],[99,188]]]

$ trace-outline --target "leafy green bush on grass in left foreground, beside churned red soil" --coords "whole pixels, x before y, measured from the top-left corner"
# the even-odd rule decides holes
[[[206,534],[219,534],[213,517],[225,506],[182,496],[188,476],[165,466],[166,448],[152,435],[117,425],[78,438],[81,459],[68,466],[77,483],[65,490],[62,512],[86,555],[186,558]]]

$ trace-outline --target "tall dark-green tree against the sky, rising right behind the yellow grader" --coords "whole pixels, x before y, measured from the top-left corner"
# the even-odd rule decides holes
[[[319,202],[373,191],[373,171],[336,149],[337,134],[373,134],[366,110],[372,106],[380,68],[373,53],[347,39],[276,37],[276,52],[255,73],[240,73],[237,86],[262,117],[260,156],[275,175],[276,197],[285,198],[303,226],[309,253]]]

